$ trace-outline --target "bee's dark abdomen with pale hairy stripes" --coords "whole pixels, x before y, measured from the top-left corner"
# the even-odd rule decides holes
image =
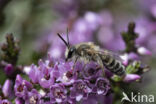
[[[103,55],[101,58],[104,66],[108,70],[119,76],[125,75],[125,66],[120,61],[109,55]]]

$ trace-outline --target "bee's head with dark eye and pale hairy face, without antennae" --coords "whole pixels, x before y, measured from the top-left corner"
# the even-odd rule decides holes
[[[74,56],[75,52],[76,48],[74,46],[67,48],[65,52],[66,61],[71,59]]]

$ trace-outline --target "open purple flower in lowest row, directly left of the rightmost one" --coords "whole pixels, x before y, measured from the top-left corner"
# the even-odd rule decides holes
[[[87,81],[76,80],[73,87],[70,89],[70,97],[80,101],[81,99],[87,99],[91,89],[87,86]]]

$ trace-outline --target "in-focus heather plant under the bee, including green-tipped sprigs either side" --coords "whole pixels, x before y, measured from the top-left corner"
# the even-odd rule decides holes
[[[56,60],[50,53],[47,59],[38,60],[37,65],[20,67],[17,65],[19,42],[12,34],[6,35],[7,41],[1,48],[0,66],[7,79],[0,86],[0,103],[112,104],[121,94],[123,85],[139,82],[142,74],[149,70],[140,61],[140,55],[151,53],[145,47],[136,45],[138,34],[135,33],[135,23],[129,23],[128,30],[121,36],[126,45],[119,54],[126,67],[124,78],[107,69],[103,76],[96,62],[90,62],[85,67],[83,62],[77,62],[73,67],[73,61],[66,62],[63,58]],[[140,50],[140,47],[143,49]]]

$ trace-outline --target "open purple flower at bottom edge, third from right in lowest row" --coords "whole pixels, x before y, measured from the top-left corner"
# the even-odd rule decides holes
[[[51,103],[63,103],[67,100],[67,90],[62,84],[52,85],[49,95]]]

